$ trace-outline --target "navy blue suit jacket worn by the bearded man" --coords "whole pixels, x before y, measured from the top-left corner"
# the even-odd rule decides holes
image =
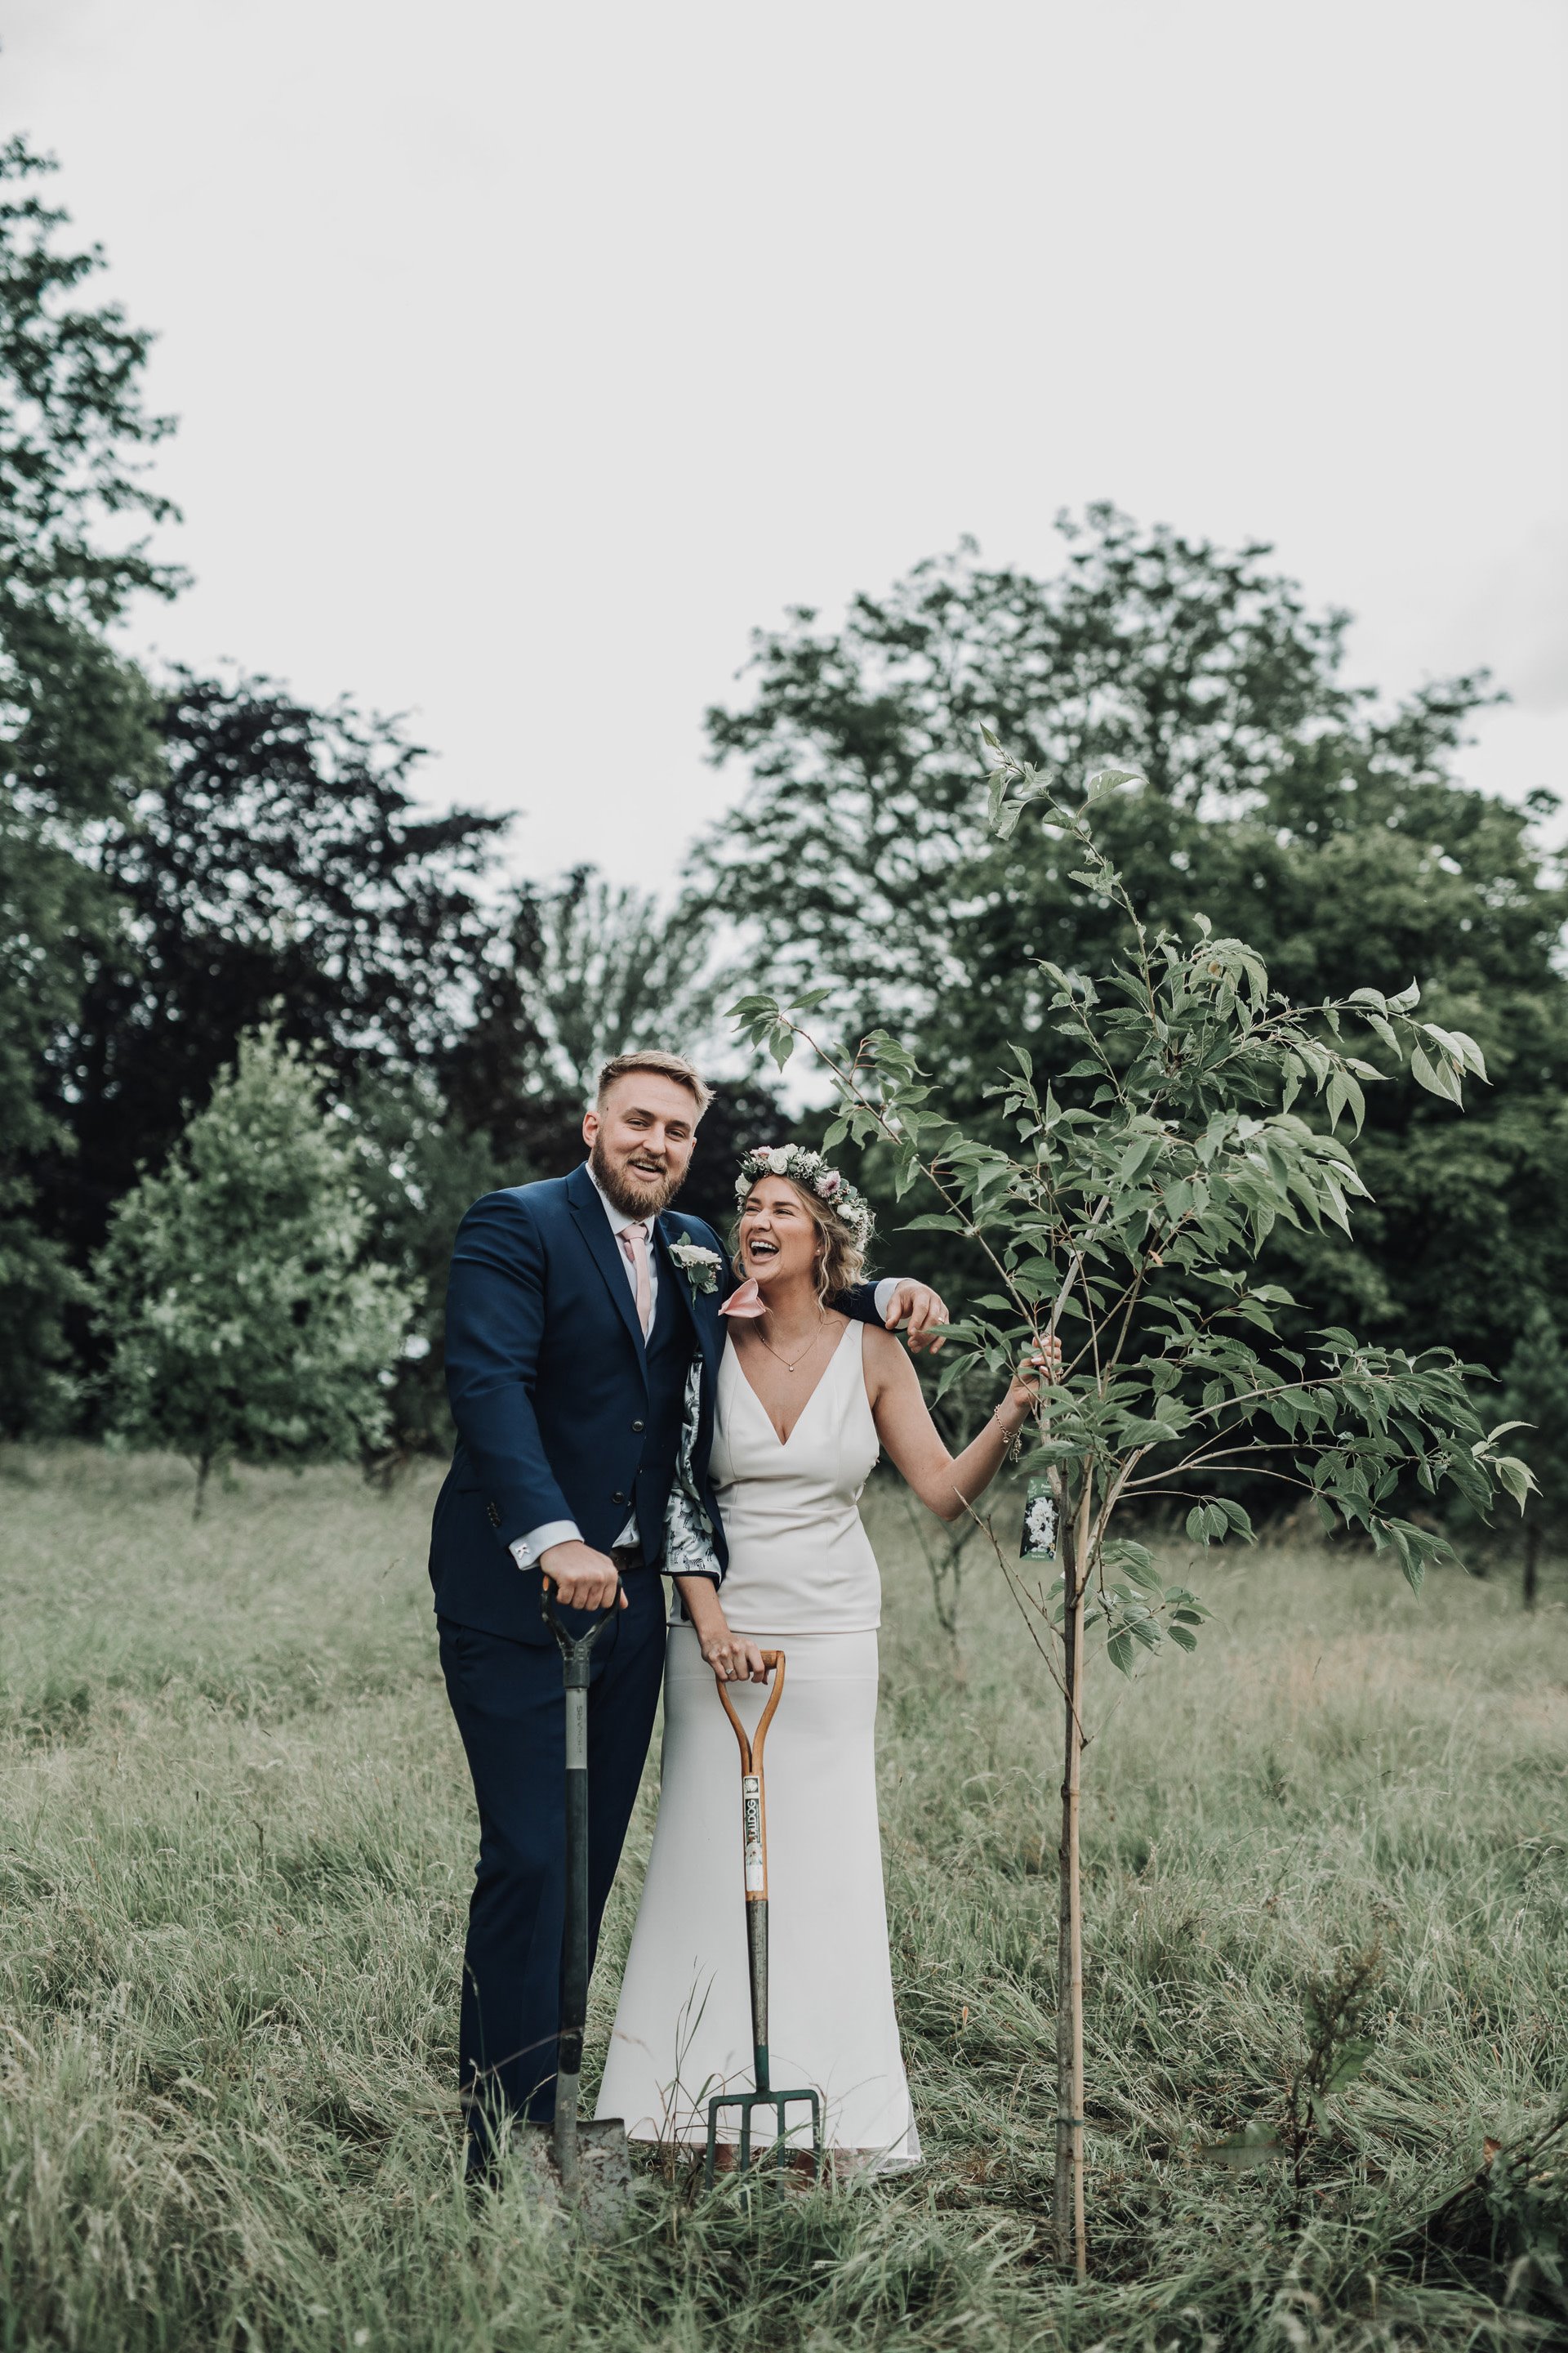
[[[710,1292],[670,1257],[670,1242],[712,1249]],[[701,1360],[701,1412],[691,1471],[715,1529],[708,1449],[724,1322],[736,1278],[701,1217],[665,1209],[654,1221],[658,1308],[646,1341],[632,1287],[588,1174],[510,1186],[477,1200],[451,1252],[447,1285],[447,1395],[458,1428],[430,1532],[435,1607],[461,1626],[548,1642],[541,1574],[510,1546],[548,1520],[576,1520],[607,1553],[637,1513],[644,1560],[663,1548],[686,1372]],[[875,1287],[835,1301],[877,1322]]]

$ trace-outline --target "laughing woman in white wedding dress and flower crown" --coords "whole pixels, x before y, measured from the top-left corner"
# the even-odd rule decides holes
[[[701,2144],[712,2092],[750,2089],[752,2040],[736,1737],[755,1732],[764,1649],[788,1654],[766,1748],[773,2082],[823,2094],[825,2146],[877,2169],[919,2162],[898,2049],[877,1828],[882,1581],[858,1499],[879,1449],[938,1518],[997,1475],[1058,1351],[1034,1355],[954,1459],[891,1332],[827,1299],[858,1282],[865,1200],[818,1153],[752,1151],[736,1184],[741,1287],[719,1365],[712,1487],[719,1584],[693,1499],[668,1567],[663,1786],[599,2115],[632,2139]],[[682,1525],[684,1522],[684,1525]],[[696,1541],[693,1541],[696,1539]]]

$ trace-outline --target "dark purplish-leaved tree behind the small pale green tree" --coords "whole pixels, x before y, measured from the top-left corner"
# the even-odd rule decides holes
[[[82,1259],[244,1031],[277,1021],[341,1096],[433,1068],[473,1007],[505,819],[425,812],[421,753],[348,704],[176,673],[160,760],[82,856],[122,908],[49,1049],[54,1233]]]

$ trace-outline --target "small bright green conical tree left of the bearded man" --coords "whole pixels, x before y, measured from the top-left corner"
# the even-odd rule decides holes
[[[386,1445],[411,1292],[364,1264],[346,1122],[273,1031],[240,1042],[169,1165],[115,1207],[94,1261],[108,1433],[214,1464],[343,1461]]]

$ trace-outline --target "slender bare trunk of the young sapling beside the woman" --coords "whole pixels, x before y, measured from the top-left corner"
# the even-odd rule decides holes
[[[1084,1758],[1084,1595],[1091,1482],[1077,1525],[1063,1513],[1063,1842],[1056,1915],[1056,2259],[1088,2275],[1084,2235],[1084,1911],[1079,1901],[1079,1781]]]

